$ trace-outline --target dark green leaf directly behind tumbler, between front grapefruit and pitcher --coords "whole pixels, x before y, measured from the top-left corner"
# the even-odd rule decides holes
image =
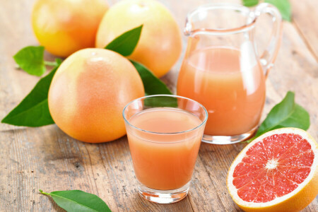
[[[143,64],[140,64],[139,62],[132,59],[130,59],[130,61],[137,69],[141,80],[143,81],[143,87],[145,88],[146,95],[172,94],[165,83],[153,75],[153,73],[147,69],[146,66],[143,66]]]

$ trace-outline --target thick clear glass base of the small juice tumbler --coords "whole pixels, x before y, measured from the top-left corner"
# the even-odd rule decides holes
[[[151,189],[139,182],[138,190],[141,197],[158,204],[170,204],[184,199],[189,192],[190,182],[179,189],[156,190]]]

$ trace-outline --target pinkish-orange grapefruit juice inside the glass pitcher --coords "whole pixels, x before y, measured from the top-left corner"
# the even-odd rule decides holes
[[[184,59],[177,94],[206,107],[206,135],[240,135],[259,123],[265,76],[258,60],[244,53],[228,47],[206,47]]]

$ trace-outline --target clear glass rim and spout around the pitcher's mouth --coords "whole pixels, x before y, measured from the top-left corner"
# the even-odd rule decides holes
[[[247,23],[234,27],[234,28],[199,28],[192,29],[192,18],[200,11],[211,11],[216,9],[227,9],[232,11],[240,11],[241,13],[247,14]],[[236,34],[243,33],[254,28],[254,24],[256,23],[257,17],[254,16],[254,13],[247,6],[243,6],[241,4],[235,3],[210,3],[204,4],[194,8],[194,10],[187,13],[186,25],[184,28],[184,35],[197,35],[201,33],[209,33],[213,35],[222,35],[222,34]]]

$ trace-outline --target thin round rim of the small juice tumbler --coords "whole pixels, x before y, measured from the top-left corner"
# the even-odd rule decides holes
[[[206,115],[204,117],[204,120],[201,121],[201,123],[198,125],[198,126],[195,126],[193,127],[192,129],[187,129],[187,130],[184,130],[184,131],[176,131],[176,132],[170,132],[170,133],[161,133],[161,132],[155,132],[155,131],[148,131],[146,129],[141,129],[137,126],[134,126],[133,124],[131,124],[127,119],[126,119],[126,115],[124,114],[126,108],[131,105],[131,103],[133,102],[136,102],[136,101],[139,101],[139,100],[143,100],[143,99],[146,99],[146,98],[154,98],[154,97],[172,97],[172,98],[180,98],[180,99],[184,99],[184,100],[189,100],[189,101],[192,101],[192,102],[195,102],[196,104],[198,104],[201,108],[204,109],[204,114]],[[160,107],[160,108],[169,108],[169,107]],[[181,109],[183,110],[183,109]],[[187,110],[185,110],[187,111]],[[169,94],[159,94],[159,95],[146,95],[146,96],[143,96],[141,98],[137,98],[135,100],[132,100],[131,102],[129,102],[125,107],[124,109],[122,110],[122,116],[124,117],[124,121],[129,124],[129,126],[133,127],[134,129],[137,129],[139,131],[144,131],[146,133],[149,133],[149,134],[161,134],[161,135],[174,135],[174,134],[183,134],[183,133],[187,133],[189,131],[194,131],[195,129],[198,129],[199,127],[201,127],[202,125],[206,124],[206,120],[208,119],[208,111],[206,110],[206,108],[201,105],[199,102],[196,102],[195,100],[192,100],[190,98],[186,98],[186,97],[183,97],[183,96],[180,96],[180,95],[169,95]],[[199,117],[198,117],[199,118]]]

